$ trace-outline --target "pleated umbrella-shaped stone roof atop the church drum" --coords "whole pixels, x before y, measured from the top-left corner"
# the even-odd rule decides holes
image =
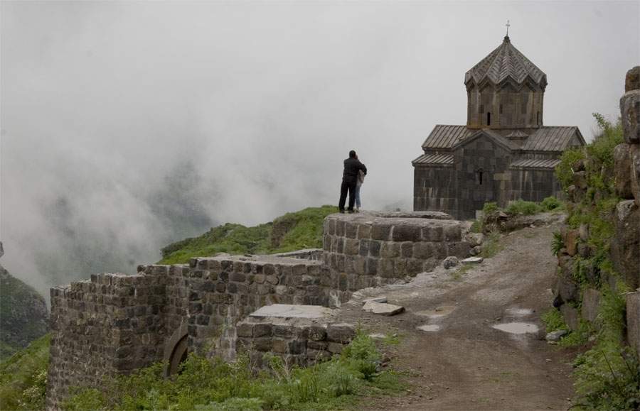
[[[481,62],[466,72],[464,84],[469,87],[471,80],[475,84],[480,84],[484,80],[500,84],[508,78],[515,81],[516,84],[522,84],[527,77],[530,77],[536,84],[540,84],[543,90],[547,86],[547,75],[517,48],[513,47],[509,36],[506,35],[496,50],[489,53]]]

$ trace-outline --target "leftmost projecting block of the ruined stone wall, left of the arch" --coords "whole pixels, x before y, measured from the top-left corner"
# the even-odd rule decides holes
[[[70,386],[159,361],[165,303],[164,278],[155,275],[92,275],[52,288],[48,405]]]

